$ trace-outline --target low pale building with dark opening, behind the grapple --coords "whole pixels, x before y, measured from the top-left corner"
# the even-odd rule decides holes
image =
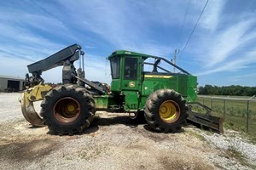
[[[0,92],[18,92],[22,90],[25,78],[0,75]]]

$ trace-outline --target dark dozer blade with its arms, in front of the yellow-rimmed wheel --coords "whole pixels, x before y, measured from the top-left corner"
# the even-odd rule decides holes
[[[192,111],[192,105],[197,105],[206,111],[205,114]],[[199,102],[191,102],[189,103],[189,110],[187,117],[188,122],[192,122],[192,124],[200,125],[201,127],[207,127],[216,131],[218,133],[224,133],[223,129],[223,118],[218,116],[211,115],[211,109],[208,108],[206,105],[202,105]]]

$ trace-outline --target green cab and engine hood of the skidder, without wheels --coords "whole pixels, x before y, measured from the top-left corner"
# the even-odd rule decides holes
[[[148,54],[115,51],[108,59],[111,64],[113,95],[124,99],[124,111],[143,110],[148,96],[159,89],[172,89],[188,102],[196,100],[197,79],[195,76],[171,71],[156,71],[159,64],[152,64],[154,71],[144,71],[145,60],[155,58]],[[157,58],[162,59],[162,58]],[[166,60],[166,59],[164,59]],[[169,70],[173,69],[168,65]]]

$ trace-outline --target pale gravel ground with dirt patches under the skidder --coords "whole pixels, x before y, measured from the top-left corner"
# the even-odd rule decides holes
[[[55,136],[26,122],[19,95],[0,94],[0,169],[256,169],[256,145],[234,131],[155,133],[97,112],[83,134]]]

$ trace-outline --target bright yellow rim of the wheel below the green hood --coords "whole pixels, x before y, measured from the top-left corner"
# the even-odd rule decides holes
[[[160,105],[159,115],[164,122],[176,122],[180,116],[179,106],[175,101],[166,100]]]

